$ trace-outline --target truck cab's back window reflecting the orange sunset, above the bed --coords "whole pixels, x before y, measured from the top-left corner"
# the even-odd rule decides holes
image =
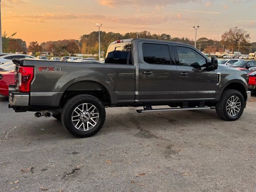
[[[131,42],[116,43],[108,46],[105,63],[127,64],[131,47]]]

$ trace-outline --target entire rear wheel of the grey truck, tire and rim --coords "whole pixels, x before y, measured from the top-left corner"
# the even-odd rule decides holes
[[[68,133],[75,137],[90,137],[103,126],[105,108],[98,98],[91,95],[74,96],[66,102],[61,121]]]

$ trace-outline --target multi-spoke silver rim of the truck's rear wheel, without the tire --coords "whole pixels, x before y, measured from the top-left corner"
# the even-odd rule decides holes
[[[98,109],[90,103],[80,104],[72,112],[71,120],[76,129],[80,131],[88,131],[94,128],[98,123]]]

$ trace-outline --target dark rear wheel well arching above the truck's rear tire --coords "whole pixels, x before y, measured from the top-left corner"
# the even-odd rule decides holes
[[[80,94],[92,95],[98,98],[104,106],[111,104],[110,94],[104,86],[97,82],[82,81],[72,84],[64,91],[60,99],[60,106],[63,107],[67,100]]]

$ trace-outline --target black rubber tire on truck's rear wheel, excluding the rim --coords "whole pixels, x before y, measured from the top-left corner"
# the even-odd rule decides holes
[[[98,110],[98,122],[90,130],[78,130],[72,123],[72,113],[78,106],[84,103],[92,104],[96,107],[96,110]],[[68,100],[61,113],[62,125],[66,128],[69,134],[78,138],[90,137],[96,134],[102,128],[105,119],[106,111],[102,102],[98,100],[98,98],[86,94],[74,96]]]

